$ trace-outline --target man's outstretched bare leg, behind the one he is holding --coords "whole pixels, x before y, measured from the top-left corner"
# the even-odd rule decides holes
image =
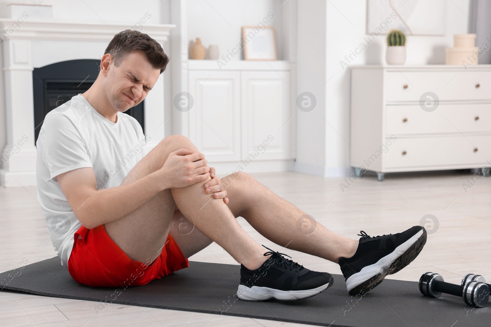
[[[312,254],[336,263],[340,257],[349,258],[355,254],[358,247],[357,240],[329,231],[292,203],[279,198],[249,174],[237,172],[221,180],[229,198],[228,208],[233,215],[244,217],[261,235],[281,247]],[[181,219],[184,217],[181,216]],[[182,224],[182,226],[190,225],[192,226],[191,220]],[[200,238],[200,235],[190,233],[185,236],[178,235],[176,241],[178,244],[184,244]],[[195,248],[191,247],[191,252],[188,254],[199,252],[209,244],[196,242]]]

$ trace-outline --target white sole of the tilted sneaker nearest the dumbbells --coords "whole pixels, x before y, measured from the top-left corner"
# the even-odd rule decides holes
[[[423,230],[420,230],[414,234],[411,238],[409,238],[409,240],[395,248],[393,252],[387,254],[376,263],[363,267],[359,273],[350,276],[346,280],[346,288],[348,289],[348,292],[370,278],[377,276],[378,274],[382,274],[382,279],[385,278],[386,275],[390,275],[396,268],[394,266],[394,261],[403,255],[404,252],[406,252],[421,237],[421,235],[423,235]]]

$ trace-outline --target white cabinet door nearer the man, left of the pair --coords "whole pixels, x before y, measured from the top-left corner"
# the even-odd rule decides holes
[[[240,72],[190,71],[190,139],[209,162],[240,160]]]

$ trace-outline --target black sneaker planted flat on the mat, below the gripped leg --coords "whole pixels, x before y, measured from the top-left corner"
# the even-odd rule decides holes
[[[334,279],[330,274],[308,270],[281,255],[286,254],[266,249],[270,252],[264,255],[272,255],[258,269],[248,270],[241,264],[241,283],[237,290],[239,299],[298,300],[319,294],[332,285]]]

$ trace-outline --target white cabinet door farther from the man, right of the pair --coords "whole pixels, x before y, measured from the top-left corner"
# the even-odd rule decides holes
[[[290,72],[242,72],[242,155],[252,160],[291,157]]]

